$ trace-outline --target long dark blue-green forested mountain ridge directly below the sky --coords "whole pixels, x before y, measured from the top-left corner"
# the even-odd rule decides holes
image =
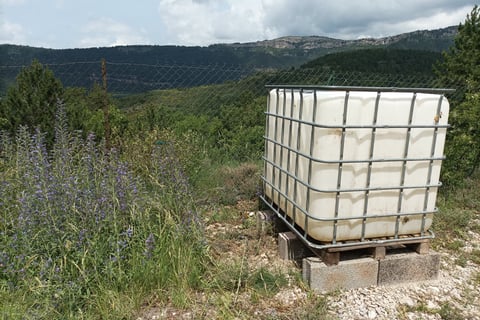
[[[111,65],[108,72],[112,79],[119,84],[124,84],[123,88],[128,87],[131,92],[142,92],[236,80],[261,69],[299,67],[328,54],[359,49],[408,49],[439,53],[453,44],[456,32],[457,27],[453,26],[378,39],[340,40],[321,36],[290,36],[250,43],[215,44],[208,47],[118,46],[44,49],[3,44],[0,45],[0,95],[14,81],[20,70],[18,66],[29,65],[33,59],[49,64],[65,86],[88,86],[93,81],[98,81],[98,70],[92,74],[92,71],[87,70],[80,62],[99,62],[105,58],[111,64],[138,65],[128,70],[124,65]],[[417,58],[422,57],[422,54],[412,54],[417,55]],[[337,58],[341,56],[329,59]],[[69,64],[68,69],[62,67],[65,64]],[[151,66],[161,65],[165,68],[155,70],[151,68]],[[206,68],[235,66],[236,70],[225,73],[221,77],[212,78],[205,76],[206,69],[188,68],[185,71],[185,68],[179,69],[181,66],[205,66]],[[74,82],[72,82],[72,74],[75,75]],[[186,83],[185,78],[195,80]]]

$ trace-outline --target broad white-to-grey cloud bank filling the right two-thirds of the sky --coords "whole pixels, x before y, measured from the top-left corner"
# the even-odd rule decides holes
[[[356,39],[465,20],[475,0],[159,0],[171,42],[206,45],[287,35]]]

